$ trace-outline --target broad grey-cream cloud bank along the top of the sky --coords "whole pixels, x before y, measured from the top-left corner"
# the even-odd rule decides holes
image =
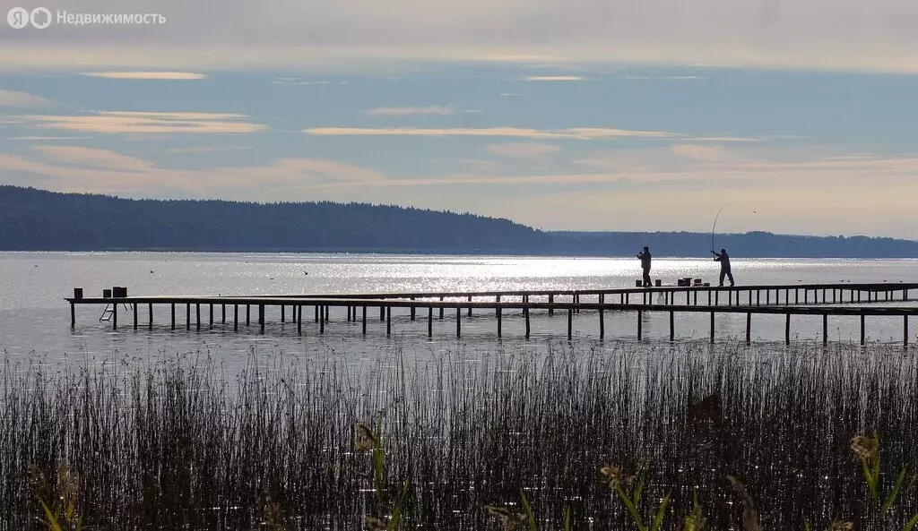
[[[44,4],[67,9],[64,0]],[[151,7],[154,6],[154,7]],[[393,60],[598,61],[918,72],[907,0],[363,0],[207,3],[94,0],[97,13],[162,12],[164,24],[6,31],[0,64],[81,61],[124,70],[362,67]]]

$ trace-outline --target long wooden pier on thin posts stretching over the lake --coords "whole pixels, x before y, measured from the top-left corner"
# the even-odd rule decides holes
[[[233,330],[239,330],[241,311],[244,311],[245,326],[252,326],[252,309],[257,312],[259,332],[264,333],[265,309],[277,307],[280,321],[297,323],[297,333],[303,332],[304,310],[312,309],[313,321],[319,324],[319,334],[325,333],[329,322],[330,308],[346,309],[348,322],[357,322],[358,308],[363,334],[366,334],[367,312],[379,310],[379,320],[386,322],[386,336],[392,333],[392,310],[409,310],[414,321],[420,311],[427,310],[428,337],[433,334],[434,311],[442,320],[447,310],[455,311],[456,337],[462,334],[462,315],[472,315],[473,310],[493,312],[496,318],[497,336],[502,337],[502,317],[505,312],[520,312],[525,320],[525,337],[531,334],[532,311],[567,314],[567,337],[573,335],[574,315],[581,312],[595,312],[599,319],[599,337],[605,337],[605,315],[608,312],[630,312],[637,316],[637,338],[641,340],[645,313],[667,313],[669,316],[669,339],[676,337],[676,315],[710,314],[711,342],[714,341],[714,323],[718,314],[744,314],[746,316],[745,340],[751,341],[753,315],[785,315],[785,341],[790,342],[792,315],[820,315],[823,317],[823,343],[828,341],[828,319],[830,316],[854,315],[860,317],[861,344],[866,338],[866,317],[901,316],[902,343],[908,347],[909,318],[918,315],[918,305],[880,305],[877,303],[910,302],[909,292],[918,289],[918,283],[839,283],[798,285],[752,285],[752,286],[659,286],[646,288],[615,288],[604,290],[530,290],[489,292],[425,292],[425,293],[349,293],[349,294],[276,294],[276,295],[157,295],[127,296],[125,288],[114,293],[124,296],[82,297],[82,289],[74,290],[74,297],[66,300],[71,305],[71,326],[76,326],[78,305],[104,305],[103,316],[118,329],[118,306],[132,319],[137,329],[139,307],[147,306],[147,323],[153,327],[154,306],[169,308],[170,324],[176,327],[175,309],[185,306],[185,329],[190,330],[194,322],[200,330],[206,322],[208,328],[215,326],[215,308],[219,310],[219,325],[226,326],[227,311],[231,310],[230,321]],[[107,290],[106,290],[107,292]],[[108,294],[108,293],[106,293]],[[77,296],[80,295],[80,296]],[[701,296],[699,296],[701,295]],[[812,295],[812,297],[811,297]],[[822,297],[820,297],[822,295]],[[655,300],[656,299],[656,300]],[[822,299],[822,300],[820,300]],[[684,301],[684,303],[683,303]],[[207,310],[207,320],[202,321],[201,306]],[[194,306],[194,321],[192,320]],[[103,320],[100,318],[100,320]]]

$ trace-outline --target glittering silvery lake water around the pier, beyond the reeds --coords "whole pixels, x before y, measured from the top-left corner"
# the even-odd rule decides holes
[[[742,260],[733,259],[737,285],[796,284],[800,282],[915,282],[918,260]],[[709,259],[654,259],[655,278],[674,282],[680,277],[717,282],[719,266]],[[86,296],[100,296],[103,288],[127,286],[131,295],[216,295],[277,293],[353,293],[399,291],[487,291],[524,289],[598,289],[630,287],[640,277],[636,259],[410,256],[373,254],[288,253],[173,253],[173,252],[6,252],[0,253],[0,350],[8,360],[28,360],[36,355],[49,362],[107,360],[113,356],[142,361],[187,352],[209,352],[228,367],[244,364],[252,350],[283,352],[297,357],[333,357],[360,364],[377,359],[394,348],[423,358],[444,350],[475,352],[494,348],[496,319],[491,312],[463,315],[463,337],[455,338],[454,311],[434,322],[433,338],[427,337],[426,319],[409,321],[409,311],[393,312],[393,335],[386,338],[385,323],[378,314],[368,318],[367,336],[360,323],[347,323],[344,309],[331,310],[325,334],[319,336],[311,309],[304,315],[303,335],[296,324],[282,325],[276,308],[267,315],[264,335],[258,327],[228,324],[207,330],[186,331],[184,308],[176,311],[181,323],[170,330],[164,306],[154,317],[154,328],[130,326],[113,331],[99,322],[101,307],[78,306],[77,326],[70,327],[69,304],[74,287]],[[902,304],[902,303],[896,303]],[[909,303],[914,304],[914,303]],[[154,311],[155,312],[155,311]],[[219,319],[219,311],[216,318]],[[523,339],[524,322],[516,312],[506,315],[500,345],[511,348],[543,348],[566,342],[564,313],[554,317],[532,314],[532,338]],[[124,315],[124,314],[122,314]],[[141,307],[140,323],[146,323]],[[425,314],[420,314],[426,316]],[[124,319],[125,317],[122,317]],[[243,317],[244,318],[244,317]],[[202,308],[202,319],[207,310]],[[253,323],[257,317],[253,315]],[[575,341],[590,348],[607,348],[621,341],[636,340],[635,315],[606,316],[606,340],[598,341],[595,313],[576,315]],[[122,321],[124,323],[124,321]],[[834,341],[857,341],[857,317],[830,318]],[[127,323],[124,323],[127,324]],[[677,315],[678,341],[707,341],[708,316]],[[744,335],[744,315],[718,317],[716,334],[730,340]],[[918,324],[912,326],[912,335]],[[818,316],[794,317],[795,337],[817,340],[822,335]],[[644,337],[668,340],[668,315],[644,317]],[[782,315],[754,315],[754,342],[781,348]],[[910,341],[916,342],[918,337]],[[901,317],[868,317],[868,340],[901,342]]]

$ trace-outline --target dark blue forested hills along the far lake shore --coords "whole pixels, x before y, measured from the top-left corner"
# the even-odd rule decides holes
[[[918,258],[918,242],[767,232],[717,237],[736,257]],[[546,232],[394,205],[122,199],[0,186],[0,250],[366,251],[705,256],[711,235]]]

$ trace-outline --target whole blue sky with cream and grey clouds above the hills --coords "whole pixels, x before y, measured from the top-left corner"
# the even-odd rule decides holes
[[[918,240],[913,0],[0,10],[2,184]]]

